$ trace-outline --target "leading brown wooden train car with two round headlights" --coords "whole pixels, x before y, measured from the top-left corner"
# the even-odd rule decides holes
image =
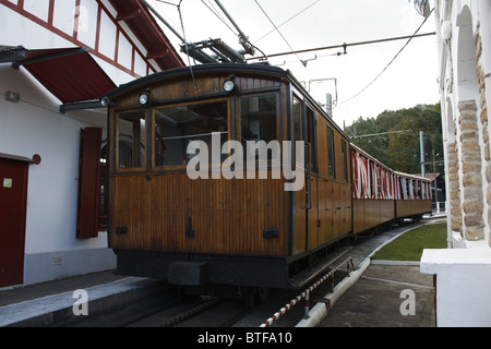
[[[291,277],[314,255],[368,227],[354,230],[361,201],[352,198],[349,137],[288,71],[181,68],[105,100],[117,273],[187,286],[300,287]],[[376,213],[364,206],[366,217],[384,215],[369,226],[412,216],[388,202]]]

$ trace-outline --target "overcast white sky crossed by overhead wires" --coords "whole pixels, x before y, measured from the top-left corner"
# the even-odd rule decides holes
[[[179,0],[161,2],[151,0],[151,2],[160,10],[177,32],[182,33],[178,9],[172,5],[178,4]],[[266,55],[291,51],[290,47],[302,50],[411,35],[424,20],[408,0],[220,0],[220,2],[242,32],[249,36],[251,43]],[[237,34],[232,33],[205,4],[215,9],[235,31],[214,0],[182,0],[181,14],[187,40],[192,43],[221,38],[229,46],[241,49]],[[275,31],[263,11],[278,27],[288,44]],[[289,19],[291,20],[288,23],[280,26]],[[166,27],[164,31],[179,49],[180,40]],[[270,32],[272,33],[268,34]],[[434,32],[433,14],[419,34],[430,32]],[[340,127],[344,122],[350,125],[359,117],[375,118],[384,110],[410,108],[418,104],[435,104],[440,100],[434,35],[414,38],[392,65],[359,94],[383,71],[406,41],[348,47],[347,55],[343,56],[333,56],[342,51],[335,49],[271,58],[270,62],[289,69],[302,82],[328,79],[323,83],[310,84],[311,94],[320,103],[325,103],[326,93],[335,96],[333,79],[336,79],[338,100],[333,110],[334,120]],[[300,60],[309,60],[307,67],[303,67]],[[188,62],[187,58],[184,62]],[[358,96],[352,98],[356,95]]]

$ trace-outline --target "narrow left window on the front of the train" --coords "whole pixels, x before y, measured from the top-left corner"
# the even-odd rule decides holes
[[[145,167],[145,110],[121,112],[117,116],[118,169]]]

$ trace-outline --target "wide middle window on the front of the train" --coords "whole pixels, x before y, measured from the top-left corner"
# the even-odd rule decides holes
[[[228,141],[228,103],[215,100],[155,109],[154,161],[156,167],[189,163],[188,145],[203,141],[212,149],[212,139]],[[223,157],[226,155],[221,155]],[[208,157],[212,160],[212,156]]]

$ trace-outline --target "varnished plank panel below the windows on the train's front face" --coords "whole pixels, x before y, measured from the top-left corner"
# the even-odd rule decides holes
[[[185,172],[152,174],[149,180],[144,174],[113,176],[111,246],[287,255],[288,192],[283,184],[273,179],[193,181]],[[117,233],[118,227],[127,227],[128,233]],[[265,239],[263,230],[279,236]]]

